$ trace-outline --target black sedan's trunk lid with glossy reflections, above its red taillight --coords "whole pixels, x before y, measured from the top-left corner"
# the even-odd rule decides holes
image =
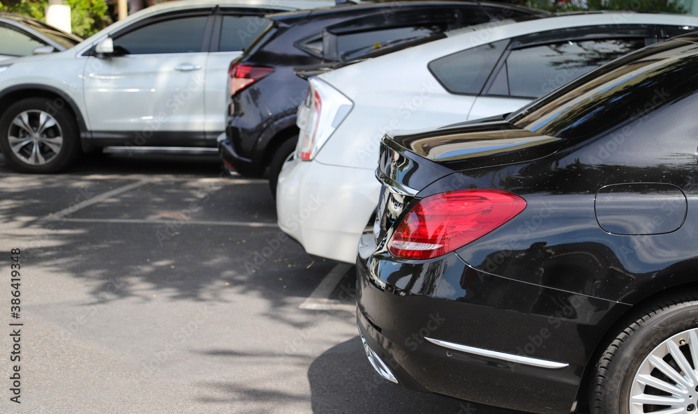
[[[563,139],[518,128],[501,117],[413,135],[385,136],[376,170],[383,191],[374,236],[382,240],[412,201],[420,198],[419,192],[439,178],[543,158],[563,144]]]

